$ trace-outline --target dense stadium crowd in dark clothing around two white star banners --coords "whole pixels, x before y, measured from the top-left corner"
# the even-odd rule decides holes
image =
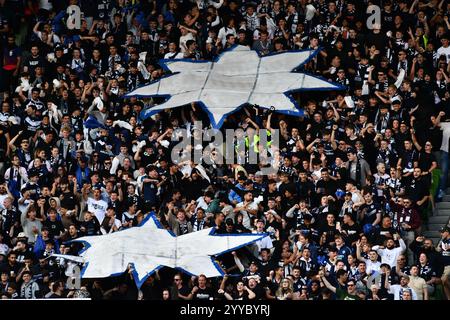
[[[371,4],[381,21],[368,28]],[[445,0],[0,0],[1,298],[450,299],[449,226],[438,243],[423,236],[447,188],[449,16]],[[205,112],[143,120],[162,98],[123,98],[165,76],[159,59],[213,60],[236,44],[317,49],[302,69],[347,88],[295,93],[300,118],[228,116],[222,129],[242,128],[247,150],[255,130],[279,130],[269,176],[263,163],[206,163],[215,152],[173,162],[171,137],[206,130]],[[223,278],[163,268],[138,290],[130,267],[67,287],[74,264],[52,254],[151,211],[176,235],[269,236],[216,257]]]

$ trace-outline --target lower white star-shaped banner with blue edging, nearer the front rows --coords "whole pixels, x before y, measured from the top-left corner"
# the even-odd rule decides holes
[[[131,264],[134,280],[140,288],[163,266],[180,269],[190,275],[221,276],[223,270],[214,257],[267,236],[265,233],[216,234],[215,230],[209,228],[176,237],[161,226],[154,213],[149,213],[137,227],[73,241],[85,246],[79,253],[80,257],[76,258],[84,263],[83,278],[121,275]]]

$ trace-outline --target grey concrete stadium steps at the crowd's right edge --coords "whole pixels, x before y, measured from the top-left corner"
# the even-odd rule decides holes
[[[450,226],[450,188],[447,188],[446,193],[442,201],[436,203],[433,215],[428,218],[428,228],[423,232],[425,237],[433,240],[434,245],[437,245],[441,238],[439,230],[445,224]]]

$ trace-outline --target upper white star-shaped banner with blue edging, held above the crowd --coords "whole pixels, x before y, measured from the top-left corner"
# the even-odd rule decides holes
[[[197,102],[209,115],[214,128],[226,116],[251,104],[277,112],[303,115],[291,93],[308,90],[343,90],[345,87],[314,75],[294,72],[319,50],[287,51],[259,56],[237,45],[211,61],[160,60],[171,73],[129,92],[126,97],[164,97],[160,105],[142,111],[145,119],[164,109]]]

